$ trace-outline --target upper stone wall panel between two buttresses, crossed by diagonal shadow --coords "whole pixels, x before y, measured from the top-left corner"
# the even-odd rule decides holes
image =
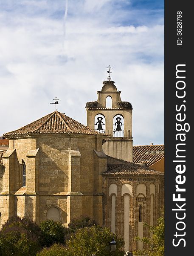
[[[68,191],[68,136],[49,134],[37,138],[39,148],[39,195]]]

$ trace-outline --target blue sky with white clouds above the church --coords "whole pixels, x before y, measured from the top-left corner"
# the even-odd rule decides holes
[[[0,135],[58,110],[86,125],[107,69],[133,106],[134,145],[164,143],[160,0],[0,0]]]

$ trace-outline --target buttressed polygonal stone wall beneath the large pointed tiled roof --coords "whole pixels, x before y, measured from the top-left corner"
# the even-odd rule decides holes
[[[94,150],[102,152],[102,139],[96,135],[37,134],[10,140],[3,159],[1,224],[13,215],[39,223],[55,212],[51,209],[47,216],[51,207],[58,209],[60,221],[66,225],[80,215],[95,217],[101,223],[99,174],[106,170],[106,160]],[[24,163],[26,186],[22,187]]]

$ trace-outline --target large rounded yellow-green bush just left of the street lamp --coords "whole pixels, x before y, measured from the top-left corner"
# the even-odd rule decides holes
[[[116,241],[114,256],[123,256],[124,240],[110,232],[109,228],[98,225],[84,227],[72,233],[70,240],[67,241],[67,249],[73,255],[110,256],[109,242],[112,241],[112,238],[115,238]]]

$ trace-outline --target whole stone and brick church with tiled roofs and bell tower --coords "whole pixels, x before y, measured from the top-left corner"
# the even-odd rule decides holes
[[[87,102],[87,126],[54,111],[3,136],[0,152],[0,226],[13,216],[64,225],[88,215],[143,248],[143,222],[157,224],[164,204],[164,173],[133,163],[132,105],[115,82],[103,82]],[[108,99],[110,105],[107,105]]]

